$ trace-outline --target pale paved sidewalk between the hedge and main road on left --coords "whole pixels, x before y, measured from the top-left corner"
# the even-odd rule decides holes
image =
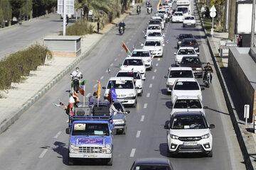
[[[44,65],[38,67],[36,71],[31,71],[29,77],[17,84],[12,83],[11,89],[0,91],[0,134],[4,132],[18,117],[24,113],[33,103],[58,82],[65,74],[75,67],[90,51],[102,40],[107,33],[129,16],[131,8],[120,18],[115,18],[112,23],[107,24],[100,34],[83,35],[81,40],[81,55],[79,57],[54,57],[53,60],[46,61]]]

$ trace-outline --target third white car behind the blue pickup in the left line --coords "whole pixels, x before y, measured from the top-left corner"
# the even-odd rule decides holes
[[[146,67],[142,60],[142,57],[126,57],[121,70],[138,70],[142,74],[142,79],[146,79]]]

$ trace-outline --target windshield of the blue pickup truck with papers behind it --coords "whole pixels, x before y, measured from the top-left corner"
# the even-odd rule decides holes
[[[83,135],[110,135],[110,130],[107,123],[74,123],[74,136]]]

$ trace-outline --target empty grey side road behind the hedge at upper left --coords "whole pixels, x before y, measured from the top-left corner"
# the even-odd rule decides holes
[[[73,20],[70,20],[72,23]],[[24,50],[35,42],[41,42],[46,35],[58,34],[63,30],[63,21],[60,15],[50,13],[32,21],[23,22],[21,26],[16,24],[11,28],[0,30],[0,60],[13,52]]]

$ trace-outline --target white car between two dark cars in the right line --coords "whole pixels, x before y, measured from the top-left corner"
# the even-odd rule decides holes
[[[198,57],[199,52],[196,52],[196,50],[193,47],[180,47],[177,52],[174,52],[175,55],[175,64],[176,66],[179,66],[181,64],[181,60],[185,56],[193,56]]]

